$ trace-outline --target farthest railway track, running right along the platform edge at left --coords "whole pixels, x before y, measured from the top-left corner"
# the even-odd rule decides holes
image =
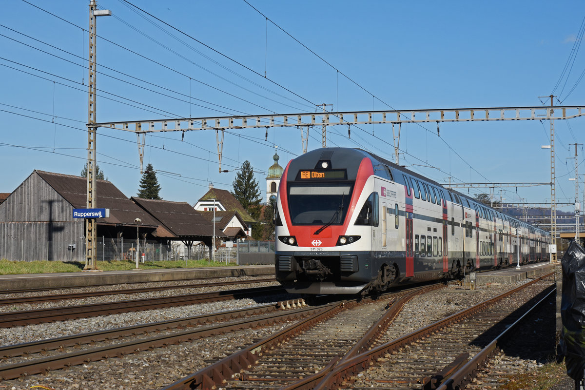
[[[16,305],[18,303],[37,303],[37,302],[56,302],[65,301],[68,299],[80,299],[80,298],[92,298],[95,296],[104,295],[119,295],[119,294],[138,294],[141,292],[151,291],[167,291],[171,289],[179,288],[201,288],[201,287],[216,287],[216,286],[229,286],[234,284],[253,284],[253,283],[266,283],[276,282],[274,278],[264,278],[255,280],[243,280],[243,281],[229,281],[229,282],[211,282],[211,283],[197,283],[197,284],[183,284],[183,285],[166,285],[156,287],[140,287],[140,288],[128,288],[128,289],[114,289],[108,291],[91,291],[91,292],[74,292],[70,294],[52,294],[52,295],[40,295],[40,296],[17,296],[11,298],[0,298],[0,306],[5,305]],[[36,292],[40,290],[22,290],[19,292]],[[14,291],[8,291],[6,293],[14,294]]]

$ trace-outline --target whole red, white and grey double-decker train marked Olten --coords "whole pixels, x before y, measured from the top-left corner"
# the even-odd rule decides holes
[[[548,259],[550,233],[369,151],[289,161],[275,207],[276,279],[367,294]]]

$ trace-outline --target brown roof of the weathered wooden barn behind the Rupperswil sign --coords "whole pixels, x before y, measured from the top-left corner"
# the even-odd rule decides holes
[[[58,194],[76,209],[87,205],[87,178],[35,170]],[[146,211],[130,201],[115,185],[106,180],[97,181],[97,208],[110,209],[109,218],[98,218],[99,225],[132,225],[140,218],[140,226],[159,226],[159,222]]]

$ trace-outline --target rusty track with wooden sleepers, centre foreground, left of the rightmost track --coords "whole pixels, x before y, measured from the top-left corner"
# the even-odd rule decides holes
[[[441,287],[442,284],[435,284],[409,289],[385,295],[378,301],[365,299],[361,304],[339,302],[165,390],[281,388],[308,374],[319,375],[333,367],[341,356],[349,358],[369,347],[406,302]]]

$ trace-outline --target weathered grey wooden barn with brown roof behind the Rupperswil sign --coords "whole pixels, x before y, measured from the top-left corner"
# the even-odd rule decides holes
[[[86,207],[87,180],[80,176],[35,170],[0,203],[0,258],[35,261],[84,261],[85,220],[73,218]],[[98,180],[97,205],[109,218],[97,219],[97,236],[116,246],[121,237],[152,237],[160,222],[132,202],[111,182]]]

